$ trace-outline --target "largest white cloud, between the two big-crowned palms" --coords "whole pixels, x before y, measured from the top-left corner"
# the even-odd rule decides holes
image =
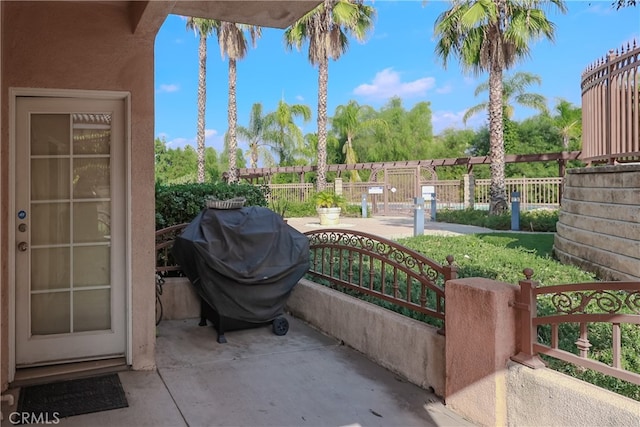
[[[433,77],[402,82],[400,73],[394,71],[393,68],[386,68],[376,73],[371,84],[361,84],[353,90],[353,93],[373,99],[389,99],[393,96],[410,98],[424,96],[429,89],[435,86],[435,82]]]

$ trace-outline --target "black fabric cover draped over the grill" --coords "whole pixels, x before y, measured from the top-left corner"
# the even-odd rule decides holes
[[[273,211],[204,209],[172,252],[198,294],[220,315],[270,322],[309,269],[309,240]]]

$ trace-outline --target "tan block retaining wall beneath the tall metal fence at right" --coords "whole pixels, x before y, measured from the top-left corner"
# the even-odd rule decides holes
[[[555,253],[604,280],[640,280],[640,165],[571,169]]]

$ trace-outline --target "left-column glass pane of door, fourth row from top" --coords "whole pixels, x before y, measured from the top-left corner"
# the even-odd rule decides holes
[[[31,289],[69,288],[71,283],[69,248],[38,248],[31,250]]]

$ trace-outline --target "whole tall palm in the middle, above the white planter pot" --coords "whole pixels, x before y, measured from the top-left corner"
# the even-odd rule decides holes
[[[338,59],[347,51],[347,36],[364,40],[373,26],[375,9],[362,0],[324,0],[284,33],[287,48],[298,50],[309,42],[309,61],[318,65],[318,190],[327,183],[327,84],[329,58]]]

